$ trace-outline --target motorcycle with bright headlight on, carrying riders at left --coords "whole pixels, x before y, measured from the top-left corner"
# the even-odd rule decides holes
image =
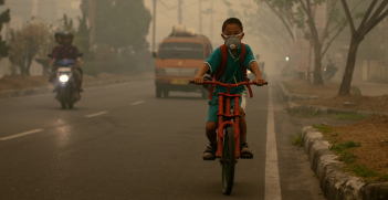
[[[75,70],[74,60],[61,60],[55,62],[56,71],[56,99],[61,103],[62,109],[73,108],[74,104],[80,99],[75,98],[75,83],[73,71]]]

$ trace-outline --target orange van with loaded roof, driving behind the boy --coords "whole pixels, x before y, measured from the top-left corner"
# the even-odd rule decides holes
[[[168,97],[169,92],[200,92],[202,98],[208,98],[209,92],[189,81],[197,75],[198,70],[213,49],[210,40],[193,30],[176,25],[172,33],[154,52],[156,97]]]

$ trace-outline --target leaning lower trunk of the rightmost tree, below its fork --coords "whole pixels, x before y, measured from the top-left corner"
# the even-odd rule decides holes
[[[347,63],[344,72],[343,83],[340,84],[338,96],[350,95],[352,77],[353,77],[353,72],[355,70],[356,56],[357,56],[358,45],[360,42],[361,40],[358,40],[358,39],[352,40],[349,53],[347,55]]]

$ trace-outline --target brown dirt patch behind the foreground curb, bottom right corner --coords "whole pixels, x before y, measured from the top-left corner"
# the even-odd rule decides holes
[[[368,182],[388,181],[388,116],[346,126],[316,127],[345,164],[344,170]]]

